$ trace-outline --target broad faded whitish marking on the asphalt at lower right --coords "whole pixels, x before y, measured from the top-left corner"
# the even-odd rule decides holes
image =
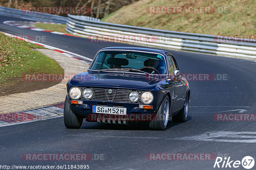
[[[256,143],[256,132],[210,131],[201,135],[174,138],[175,140]]]

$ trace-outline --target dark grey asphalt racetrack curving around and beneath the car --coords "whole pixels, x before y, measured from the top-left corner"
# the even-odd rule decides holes
[[[14,35],[46,36],[44,44],[93,58],[112,42],[92,43],[84,38],[55,35],[4,25]],[[228,74],[228,80],[190,80],[188,121],[169,120],[166,131],[150,131],[147,124],[116,125],[84,122],[78,130],[66,129],[63,117],[0,127],[0,165],[90,165],[90,169],[216,169],[213,160],[148,160],[148,153],[226,154],[232,160],[256,160],[255,121],[215,121],[216,113],[256,113],[256,62],[207,54],[170,51],[181,73]],[[63,98],[64,100],[64,98]],[[242,132],[234,135],[235,132]],[[248,133],[251,132],[251,133]],[[225,135],[225,134],[230,135]],[[217,134],[214,138],[211,135]],[[198,136],[196,136],[198,135]],[[24,153],[104,154],[104,160],[29,161]],[[220,164],[222,165],[222,164]],[[252,168],[255,169],[256,165]],[[222,168],[220,168],[222,169]],[[228,168],[234,169],[234,168]],[[244,169],[241,165],[236,169]]]

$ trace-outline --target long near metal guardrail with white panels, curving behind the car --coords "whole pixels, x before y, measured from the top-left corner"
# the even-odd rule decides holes
[[[105,38],[110,39],[110,41],[118,39],[118,42],[123,41],[144,46],[256,59],[256,42],[251,42],[249,39],[229,38],[228,41],[234,40],[234,42],[221,43],[218,41],[218,37],[213,35],[166,31],[92,21],[70,14],[68,14],[66,31],[90,39],[104,38],[104,36],[106,36]],[[120,36],[124,38],[120,39]],[[127,41],[125,36],[130,36],[130,40]],[[135,41],[132,42],[132,36],[145,36],[149,38],[150,41],[148,41],[148,39],[133,39]]]

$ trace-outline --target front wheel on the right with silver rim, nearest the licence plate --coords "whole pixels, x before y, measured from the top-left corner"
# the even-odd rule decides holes
[[[167,106],[168,105],[168,106]],[[165,108],[167,107],[167,108]],[[165,117],[167,117],[167,122],[166,119],[164,121],[164,109],[168,110],[167,113],[165,113]],[[149,128],[151,130],[159,130],[159,131],[163,131],[166,129],[167,123],[168,123],[168,117],[169,117],[169,110],[170,110],[170,100],[168,96],[164,97],[163,102],[161,103],[160,108],[158,109],[157,113],[156,113],[156,120],[152,120],[149,123]]]

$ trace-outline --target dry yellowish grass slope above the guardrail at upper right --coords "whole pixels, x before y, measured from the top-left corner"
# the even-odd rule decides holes
[[[214,7],[213,13],[150,13],[150,7]],[[255,35],[254,0],[140,0],[101,21],[211,35]],[[155,8],[156,9],[156,8]]]

